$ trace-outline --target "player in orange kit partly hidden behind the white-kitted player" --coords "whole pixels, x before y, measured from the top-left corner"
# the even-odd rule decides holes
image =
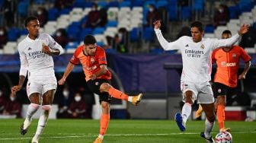
[[[231,37],[232,33],[229,30],[222,32],[222,39]],[[245,62],[244,71],[238,75],[239,60]],[[249,68],[251,67],[251,57],[240,46],[222,47],[216,49],[212,54],[213,62],[217,64],[216,74],[213,80],[213,90],[216,95],[216,114],[219,123],[219,132],[230,132],[230,128],[225,128],[225,106],[226,95],[231,91],[235,91],[237,79],[245,79]],[[200,116],[201,110],[197,110],[196,116]]]

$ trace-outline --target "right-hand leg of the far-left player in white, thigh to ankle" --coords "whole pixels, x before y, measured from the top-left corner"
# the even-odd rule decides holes
[[[55,91],[56,91],[55,89],[52,89],[50,91],[46,91],[43,94],[42,113],[38,120],[37,132],[31,141],[32,143],[37,143],[39,141],[40,135],[42,135],[43,129],[46,126],[46,123],[48,121],[48,117],[50,114],[50,110],[51,110],[51,107],[53,104],[53,98],[54,98]]]

